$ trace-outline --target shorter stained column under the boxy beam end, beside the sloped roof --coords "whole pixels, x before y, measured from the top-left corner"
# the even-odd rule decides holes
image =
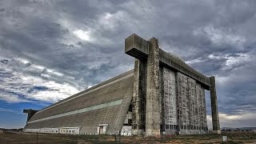
[[[132,122],[133,122],[133,135],[141,135],[145,129],[145,62],[135,58],[134,62],[134,94],[132,99]]]

